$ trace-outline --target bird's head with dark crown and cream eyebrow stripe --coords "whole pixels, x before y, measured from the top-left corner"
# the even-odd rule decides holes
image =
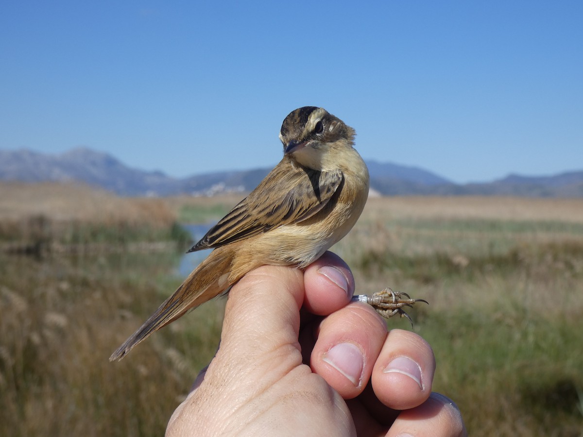
[[[283,120],[279,139],[283,153],[304,167],[318,171],[350,168],[354,129],[324,108],[304,106]]]

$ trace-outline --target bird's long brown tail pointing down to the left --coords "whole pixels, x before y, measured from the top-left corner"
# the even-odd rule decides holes
[[[184,315],[191,308],[212,299],[233,284],[229,283],[232,251],[215,249],[189,274],[182,285],[147,319],[124,344],[111,354],[110,361],[121,360],[136,344],[154,331]]]

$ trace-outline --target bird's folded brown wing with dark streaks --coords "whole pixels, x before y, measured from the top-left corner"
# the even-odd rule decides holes
[[[299,170],[282,161],[188,252],[223,246],[305,220],[329,202],[342,181],[339,170]]]

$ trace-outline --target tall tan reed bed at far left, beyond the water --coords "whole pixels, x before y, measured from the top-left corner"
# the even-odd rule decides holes
[[[0,252],[167,250],[163,241],[181,238],[187,235],[162,199],[73,184],[0,183]]]

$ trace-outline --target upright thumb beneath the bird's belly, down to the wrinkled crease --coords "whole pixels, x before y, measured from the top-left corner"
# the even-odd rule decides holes
[[[236,351],[255,360],[283,346],[298,348],[304,273],[282,266],[262,266],[231,288],[225,308],[220,351]],[[301,361],[301,358],[300,358]]]

